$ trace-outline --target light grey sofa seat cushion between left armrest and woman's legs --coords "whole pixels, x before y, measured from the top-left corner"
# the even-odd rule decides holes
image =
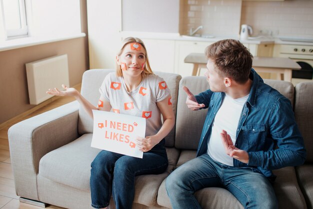
[[[84,134],[45,154],[40,159],[38,175],[80,190],[90,190],[90,164],[100,151],[90,147],[91,138],[92,134]]]

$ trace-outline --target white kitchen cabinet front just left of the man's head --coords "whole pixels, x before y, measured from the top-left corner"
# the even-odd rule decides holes
[[[193,66],[183,60],[190,53],[204,53],[205,48],[213,42],[175,41],[175,66],[174,72],[184,76],[191,76]],[[204,71],[200,71],[203,75]]]

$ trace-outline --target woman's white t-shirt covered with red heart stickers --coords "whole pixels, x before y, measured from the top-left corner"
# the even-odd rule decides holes
[[[112,112],[146,118],[145,136],[154,135],[161,128],[161,115],[156,102],[170,95],[162,78],[150,74],[142,78],[136,89],[127,92],[123,77],[109,73],[99,91],[110,102]],[[167,104],[171,105],[170,98]]]

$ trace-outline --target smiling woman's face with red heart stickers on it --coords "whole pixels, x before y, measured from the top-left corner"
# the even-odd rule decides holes
[[[123,76],[139,76],[145,64],[145,49],[138,43],[127,44],[117,57],[117,63]]]

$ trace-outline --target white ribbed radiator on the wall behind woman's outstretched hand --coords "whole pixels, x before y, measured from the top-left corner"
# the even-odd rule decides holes
[[[29,103],[39,104],[52,95],[46,94],[54,87],[69,86],[67,54],[26,63]]]

